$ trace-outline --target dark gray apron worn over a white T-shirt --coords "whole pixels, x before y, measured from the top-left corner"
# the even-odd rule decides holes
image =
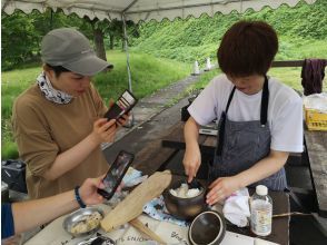
[[[270,129],[267,122],[269,89],[268,78],[261,97],[260,120],[231,121],[227,117],[228,108],[236,87],[232,88],[225,111],[219,120],[219,131],[214,163],[209,165],[209,182],[218,177],[234,176],[244,171],[270,153]],[[255,183],[265,185],[271,190],[284,190],[287,187],[285,169]]]

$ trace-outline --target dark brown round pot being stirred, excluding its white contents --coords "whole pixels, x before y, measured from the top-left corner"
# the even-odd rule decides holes
[[[170,185],[164,192],[164,199],[168,212],[181,219],[191,220],[195,216],[200,214],[206,207],[206,188],[198,180],[192,180],[189,185],[190,188],[199,188],[200,194],[195,197],[182,198],[174,196],[169,189],[177,189],[181,184],[187,184],[187,180],[178,180]]]

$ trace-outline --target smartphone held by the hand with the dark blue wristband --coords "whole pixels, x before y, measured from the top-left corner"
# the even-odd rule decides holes
[[[98,189],[98,193],[106,199],[110,199],[120,185],[128,167],[133,160],[133,154],[121,150],[110,166],[107,175],[102,179],[105,189]]]

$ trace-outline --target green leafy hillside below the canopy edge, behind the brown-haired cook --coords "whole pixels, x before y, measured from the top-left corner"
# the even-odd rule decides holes
[[[309,6],[299,2],[295,8],[269,7],[259,12],[252,10],[244,14],[216,13],[212,18],[176,19],[174,22],[150,21],[140,26],[140,38],[133,39],[133,49],[157,57],[177,59],[185,62],[206,57],[216,58],[216,50],[225,31],[237,20],[265,20],[278,32],[280,46],[278,60],[304,58],[327,58],[327,1],[317,0]]]

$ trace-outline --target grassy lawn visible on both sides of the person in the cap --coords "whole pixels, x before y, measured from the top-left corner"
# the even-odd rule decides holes
[[[106,102],[117,97],[128,88],[126,55],[121,51],[108,51],[107,58],[113,63],[112,71],[100,74],[93,82]],[[142,98],[167,85],[187,77],[191,66],[153,58],[149,55],[130,53],[132,90],[138,98]],[[11,108],[19,94],[30,87],[41,71],[41,65],[34,68],[12,70],[1,74],[1,158],[17,158],[18,151],[12,139],[10,125]]]

